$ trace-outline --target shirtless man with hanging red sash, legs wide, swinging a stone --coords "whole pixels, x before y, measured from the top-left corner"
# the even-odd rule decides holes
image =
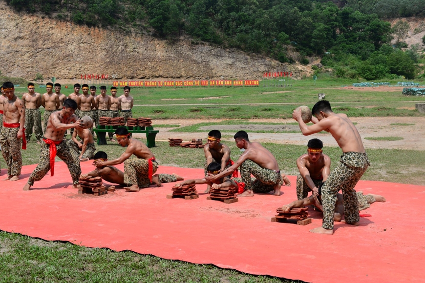
[[[76,109],[77,102],[72,99],[66,99],[62,110],[50,115],[47,122],[47,130],[40,145],[40,162],[32,172],[28,182],[23,186],[24,191],[29,191],[34,182],[42,180],[49,170],[50,176],[54,176],[55,155],[66,163],[69,173],[71,173],[72,187],[78,188],[78,181],[81,175],[80,161],[71,154],[68,144],[64,140],[66,129],[84,127],[83,121],[74,115]]]

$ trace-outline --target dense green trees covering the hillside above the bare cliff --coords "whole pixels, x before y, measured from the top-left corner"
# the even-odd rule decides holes
[[[186,33],[198,40],[294,62],[288,49],[320,56],[337,77],[375,80],[417,74],[419,46],[408,52],[405,25],[383,17],[425,13],[425,0],[6,0],[16,10],[58,20],[121,27],[175,40]],[[413,6],[416,7],[412,8]],[[418,10],[423,7],[421,10]],[[404,28],[404,29],[403,29]],[[425,27],[424,27],[425,29]],[[408,31],[408,29],[407,29]],[[397,32],[402,35],[398,35]],[[390,41],[393,34],[396,46]],[[316,68],[316,73],[320,68]]]

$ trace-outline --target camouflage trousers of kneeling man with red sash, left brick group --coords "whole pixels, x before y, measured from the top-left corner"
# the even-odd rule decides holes
[[[149,165],[145,159],[131,158],[124,162],[124,183],[137,184],[139,188],[149,187]],[[158,170],[158,162],[152,161],[152,174]]]

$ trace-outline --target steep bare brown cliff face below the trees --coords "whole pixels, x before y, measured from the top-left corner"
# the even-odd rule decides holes
[[[290,64],[238,50],[170,44],[149,36],[120,34],[69,22],[17,14],[0,2],[1,72],[33,80],[80,78],[81,74],[116,74],[117,79],[260,79],[264,72],[304,74]]]

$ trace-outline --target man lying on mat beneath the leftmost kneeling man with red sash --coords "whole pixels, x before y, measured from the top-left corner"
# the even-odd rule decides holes
[[[94,155],[94,161],[107,161],[108,156],[104,151],[98,151]],[[94,165],[94,162],[93,162]],[[95,165],[96,166],[96,165]],[[83,178],[87,177],[102,177],[106,182],[119,184],[120,186],[125,187],[124,183],[124,172],[114,166],[105,166],[105,167],[96,167],[95,170],[88,172],[87,174],[81,175]],[[175,173],[172,174],[155,174],[152,175],[152,182],[150,184],[160,183],[170,183],[184,180],[182,177],[178,176]],[[111,187],[109,187],[111,188]],[[115,188],[115,186],[114,186]]]

